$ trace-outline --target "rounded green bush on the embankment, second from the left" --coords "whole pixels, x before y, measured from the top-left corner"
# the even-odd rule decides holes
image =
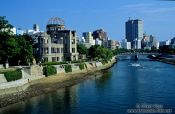
[[[57,70],[54,66],[48,65],[43,68],[43,73],[46,76],[54,75],[57,73]]]

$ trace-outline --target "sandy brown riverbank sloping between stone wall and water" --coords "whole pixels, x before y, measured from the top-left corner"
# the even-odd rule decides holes
[[[59,88],[74,85],[92,76],[94,77],[96,74],[99,74],[100,72],[112,67],[115,63],[116,60],[112,60],[111,62],[108,62],[100,67],[92,67],[90,69],[84,69],[71,73],[61,73],[31,81],[21,87],[6,89],[4,90],[6,94],[0,96],[0,108],[25,101],[35,96],[56,91]],[[27,89],[24,89],[25,87],[27,87]]]

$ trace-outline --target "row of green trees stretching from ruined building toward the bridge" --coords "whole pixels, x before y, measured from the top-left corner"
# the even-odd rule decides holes
[[[91,46],[89,49],[84,44],[78,44],[77,45],[77,50],[81,55],[86,55],[88,59],[90,60],[103,60],[103,61],[108,61],[112,58],[114,55],[118,55],[121,53],[134,53],[134,52],[139,52],[139,53],[151,53],[151,52],[158,52],[159,50],[152,48],[151,50],[148,49],[125,49],[125,48],[117,48],[115,50],[110,50],[107,48],[104,48],[103,46],[99,45],[94,45]]]

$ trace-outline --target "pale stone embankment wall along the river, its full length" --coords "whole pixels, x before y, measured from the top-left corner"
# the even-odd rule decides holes
[[[114,62],[115,62],[115,57],[113,57],[113,59],[111,59],[111,61],[105,65],[103,65],[101,62],[95,62],[95,61],[85,62],[85,68],[83,70],[80,70],[78,64],[71,64],[72,72],[70,72],[70,73],[76,74],[76,73],[94,72],[94,71],[108,68]],[[64,65],[53,65],[53,66],[56,67],[57,75],[70,74],[70,73],[65,73]],[[29,87],[29,82],[32,82],[34,80],[41,79],[41,78],[45,77],[43,75],[42,69],[43,69],[43,67],[39,66],[39,65],[33,65],[31,67],[24,67],[21,69],[22,79],[12,81],[12,82],[5,82],[5,80],[3,78],[3,80],[4,80],[4,81],[2,81],[3,83],[0,83],[0,95],[24,91],[27,87]]]

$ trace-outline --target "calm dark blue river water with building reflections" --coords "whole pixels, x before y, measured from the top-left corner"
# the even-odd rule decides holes
[[[175,66],[145,56],[138,61],[120,58],[101,75],[1,109],[0,114],[125,114],[155,107],[175,113]]]

